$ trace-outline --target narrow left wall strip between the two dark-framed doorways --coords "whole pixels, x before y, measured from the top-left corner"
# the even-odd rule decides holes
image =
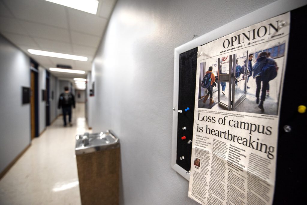
[[[39,133],[46,128],[46,101],[43,101],[42,90],[46,89],[46,70],[38,66],[38,112],[39,112]]]

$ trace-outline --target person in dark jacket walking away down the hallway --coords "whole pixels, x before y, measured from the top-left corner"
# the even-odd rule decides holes
[[[68,124],[72,126],[72,106],[75,108],[75,97],[69,92],[68,87],[64,88],[64,93],[60,94],[58,108],[62,108],[64,127],[66,127],[66,115],[68,114]]]

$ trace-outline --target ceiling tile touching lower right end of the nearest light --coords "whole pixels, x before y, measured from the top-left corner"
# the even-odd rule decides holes
[[[69,26],[73,31],[101,36],[107,25],[105,18],[82,12],[76,9],[68,9]]]

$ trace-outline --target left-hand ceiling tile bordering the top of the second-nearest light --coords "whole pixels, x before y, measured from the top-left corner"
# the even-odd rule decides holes
[[[52,41],[52,40],[43,39],[43,38],[34,38],[34,40],[45,51],[73,54],[72,45],[70,43]]]

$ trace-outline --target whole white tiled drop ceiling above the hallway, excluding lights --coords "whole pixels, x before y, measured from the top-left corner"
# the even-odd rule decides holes
[[[99,0],[97,14],[89,14],[44,0],[0,0],[0,33],[46,69],[64,64],[87,72],[115,3],[116,0]],[[28,49],[79,55],[88,60],[33,55]]]

